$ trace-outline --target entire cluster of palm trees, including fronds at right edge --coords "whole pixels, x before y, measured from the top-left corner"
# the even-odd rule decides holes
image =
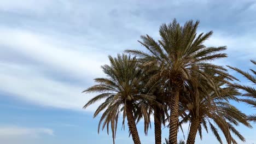
[[[237,143],[234,135],[245,141],[235,126],[251,127],[248,120],[254,118],[255,121],[255,115],[247,117],[229,101],[242,100],[255,106],[256,91],[233,83],[237,80],[234,76],[211,62],[227,57],[222,53],[226,47],[205,46],[212,31],[197,34],[198,25],[199,21],[190,20],[181,26],[174,19],[160,27],[159,40],[149,35],[141,36],[139,43],[146,50],[126,50],[117,57],[109,56],[110,64],[102,66],[107,77],[95,79],[97,84],[84,91],[99,93],[85,104],[84,109],[103,100],[94,113],[94,117],[101,115],[98,132],[107,127],[109,133],[110,126],[115,143],[118,121],[121,119],[122,127],[125,127],[127,119],[133,142],[139,144],[141,140],[136,124],[144,121],[144,133],[147,135],[154,117],[156,144],[162,143],[162,125],[169,128],[166,143],[177,144],[178,130],[184,123],[189,123],[187,143],[195,143],[197,133],[202,139],[202,129],[207,133],[210,129],[220,143],[223,141],[219,130],[227,143]],[[232,69],[255,83],[255,77]],[[253,73],[256,74],[255,71]],[[244,95],[254,100],[239,99],[237,96],[242,94],[238,88],[247,91]]]

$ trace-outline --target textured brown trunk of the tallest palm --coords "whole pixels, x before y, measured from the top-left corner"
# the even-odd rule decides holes
[[[179,91],[174,90],[170,95],[170,123],[169,123],[169,143],[177,144],[178,117],[179,117]]]

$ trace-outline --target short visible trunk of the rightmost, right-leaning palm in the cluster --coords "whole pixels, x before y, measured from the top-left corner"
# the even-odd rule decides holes
[[[190,129],[189,129],[187,144],[194,144],[195,143],[195,137],[196,137],[196,133],[197,133],[198,128],[199,128],[199,119],[192,118]]]

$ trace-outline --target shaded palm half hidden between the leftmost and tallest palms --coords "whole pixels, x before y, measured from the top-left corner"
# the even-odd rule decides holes
[[[141,68],[143,69],[145,76],[144,77],[150,77],[153,75],[156,71],[155,65],[147,65],[147,67],[143,67],[141,65]],[[151,95],[154,97],[153,100],[147,101],[147,105],[144,105],[143,108],[147,109],[147,117],[143,117],[142,113],[138,113],[136,119],[137,122],[144,118],[144,128],[145,128],[145,134],[147,134],[149,125],[150,125],[150,116],[154,116],[154,133],[155,133],[155,144],[161,144],[161,125],[165,125],[165,116],[168,115],[167,105],[166,105],[166,97],[165,97],[165,88],[161,85],[161,81],[159,80],[157,83],[154,83],[154,85],[147,85],[148,84],[147,79],[143,79],[143,93],[146,95]],[[138,106],[141,107],[141,106]],[[145,110],[144,110],[145,111]],[[146,116],[146,114],[144,114]]]

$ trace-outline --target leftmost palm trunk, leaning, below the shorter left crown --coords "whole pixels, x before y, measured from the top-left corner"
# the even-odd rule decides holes
[[[128,127],[129,127],[129,130],[131,131],[133,142],[135,144],[141,144],[141,140],[139,140],[135,119],[132,113],[131,101],[126,101],[126,116],[127,116]]]

